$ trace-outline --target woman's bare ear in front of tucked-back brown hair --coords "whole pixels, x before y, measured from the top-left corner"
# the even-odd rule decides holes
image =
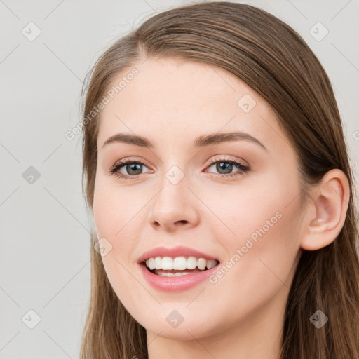
[[[334,169],[325,173],[306,208],[300,241],[304,250],[318,250],[337,238],[344,226],[349,192],[343,171]]]

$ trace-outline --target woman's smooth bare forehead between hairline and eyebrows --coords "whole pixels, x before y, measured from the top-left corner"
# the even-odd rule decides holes
[[[174,143],[233,130],[266,142],[269,128],[280,131],[269,104],[224,69],[177,58],[148,58],[118,74],[109,87],[118,85],[133,68],[137,75],[100,114],[99,147],[123,132],[155,137],[154,142],[170,138]]]

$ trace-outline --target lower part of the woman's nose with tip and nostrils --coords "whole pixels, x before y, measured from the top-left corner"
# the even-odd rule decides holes
[[[198,224],[200,201],[187,185],[185,179],[177,184],[164,179],[163,187],[150,202],[149,223],[154,229],[174,232]]]

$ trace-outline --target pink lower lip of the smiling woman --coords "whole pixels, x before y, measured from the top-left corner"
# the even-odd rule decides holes
[[[208,279],[208,277],[218,269],[217,264],[211,269],[207,269],[207,271],[185,274],[184,276],[165,277],[151,273],[143,264],[138,265],[141,267],[142,274],[144,279],[147,280],[147,283],[156,290],[163,290],[165,292],[180,292],[195,287]]]

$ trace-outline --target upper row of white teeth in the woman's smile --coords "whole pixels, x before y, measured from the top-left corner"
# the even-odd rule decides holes
[[[186,269],[195,269],[198,267],[201,271],[212,268],[217,264],[215,259],[205,259],[205,258],[196,258],[196,257],[156,257],[149,258],[146,261],[146,266],[150,269],[163,269],[163,270],[172,270],[177,269],[179,271],[184,271]],[[172,274],[172,273],[170,273]],[[182,273],[175,273],[176,275],[181,275]]]

